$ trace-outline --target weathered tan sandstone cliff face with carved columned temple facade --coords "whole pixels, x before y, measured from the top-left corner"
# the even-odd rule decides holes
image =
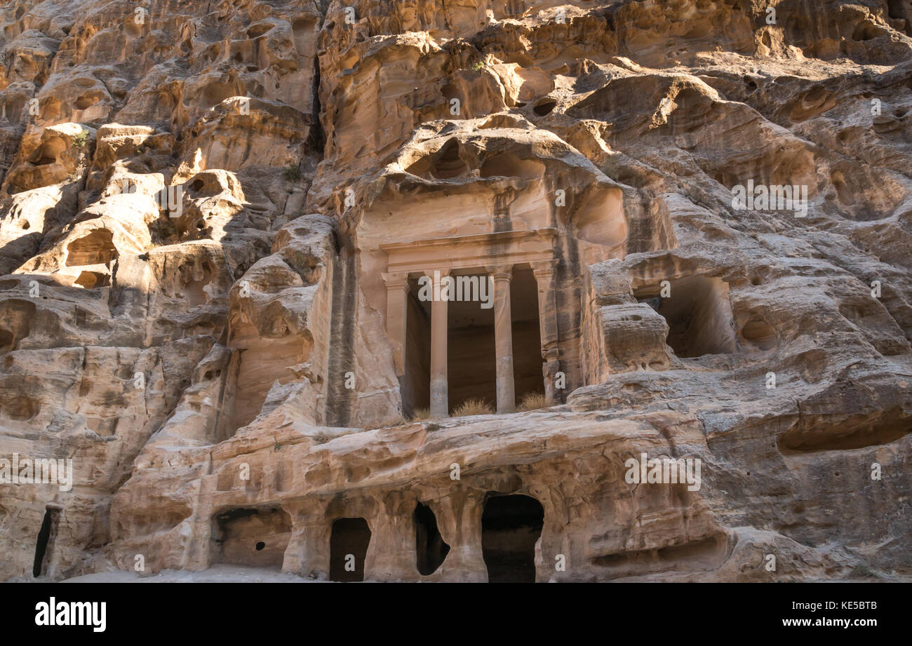
[[[0,579],[912,577],[907,2],[0,24]]]

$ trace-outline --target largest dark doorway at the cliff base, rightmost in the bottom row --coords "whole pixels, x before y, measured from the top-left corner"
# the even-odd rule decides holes
[[[494,495],[482,513],[482,557],[490,583],[534,583],[544,507],[528,495]]]

